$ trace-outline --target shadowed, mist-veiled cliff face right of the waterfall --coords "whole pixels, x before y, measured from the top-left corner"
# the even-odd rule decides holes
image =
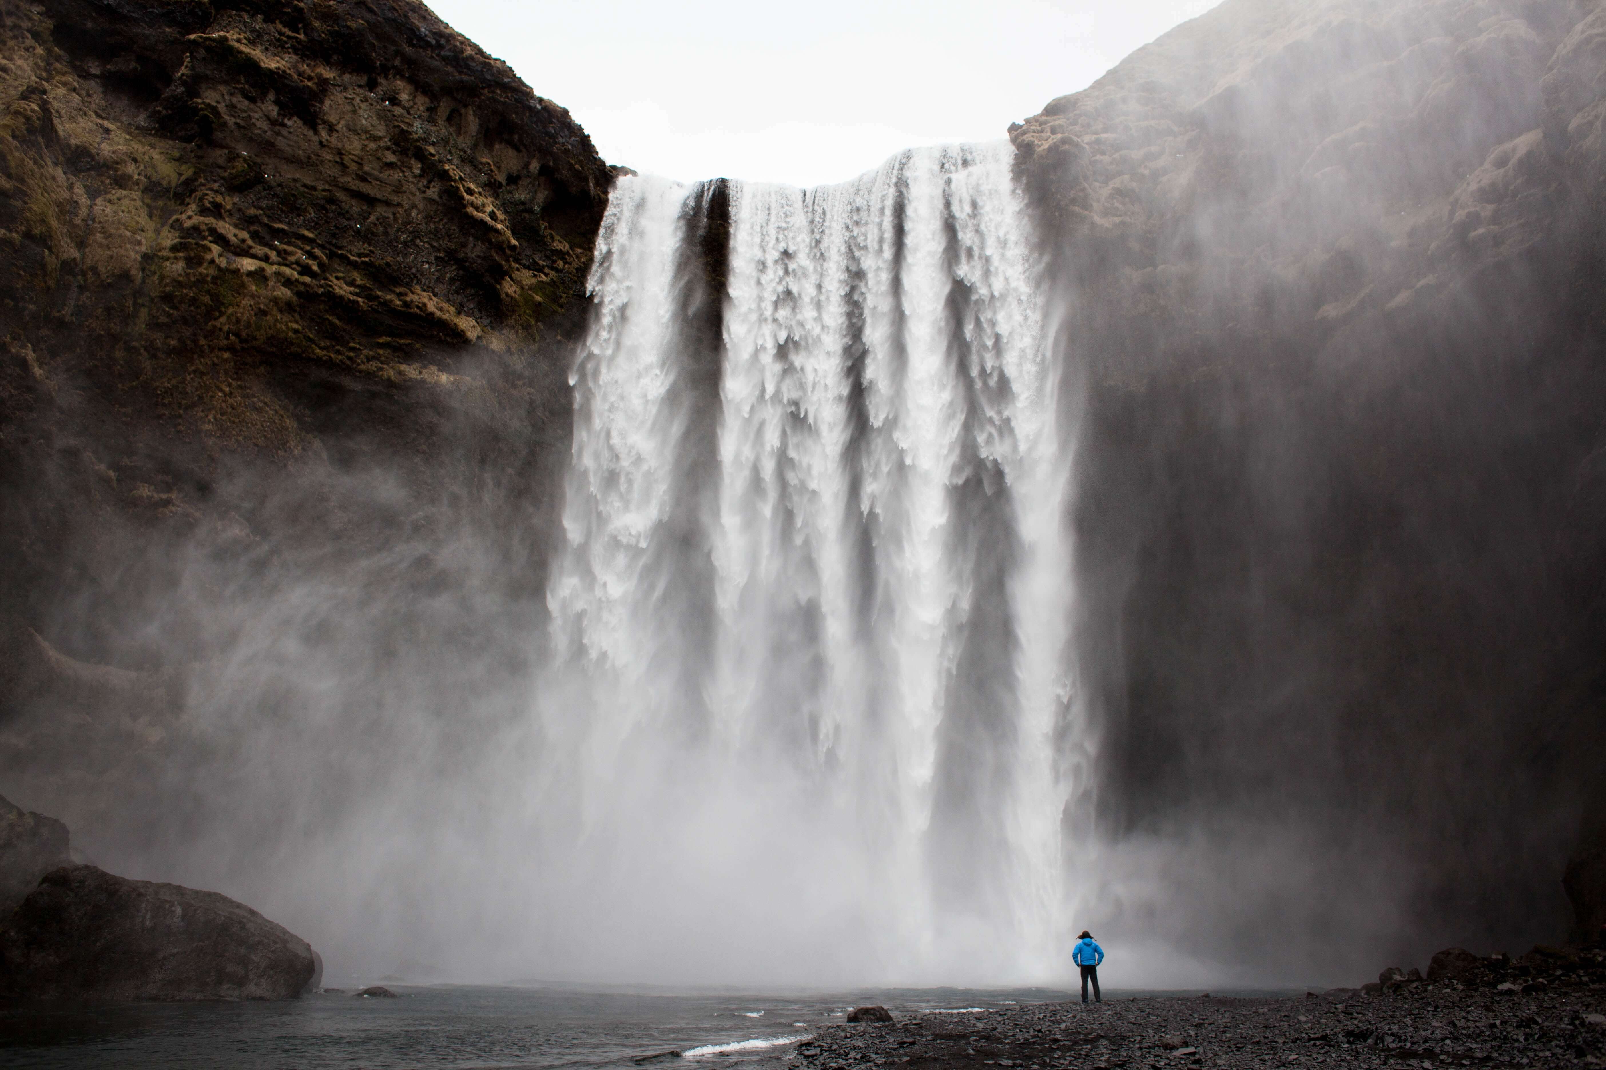
[[[1566,929],[1603,72],[1595,2],[1229,0],[1012,127],[1082,374],[1086,812],[1198,844],[1155,910],[1206,953]]]

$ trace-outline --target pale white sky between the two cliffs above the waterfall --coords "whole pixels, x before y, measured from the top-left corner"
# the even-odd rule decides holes
[[[994,141],[1216,0],[432,0],[610,164],[846,181]]]

